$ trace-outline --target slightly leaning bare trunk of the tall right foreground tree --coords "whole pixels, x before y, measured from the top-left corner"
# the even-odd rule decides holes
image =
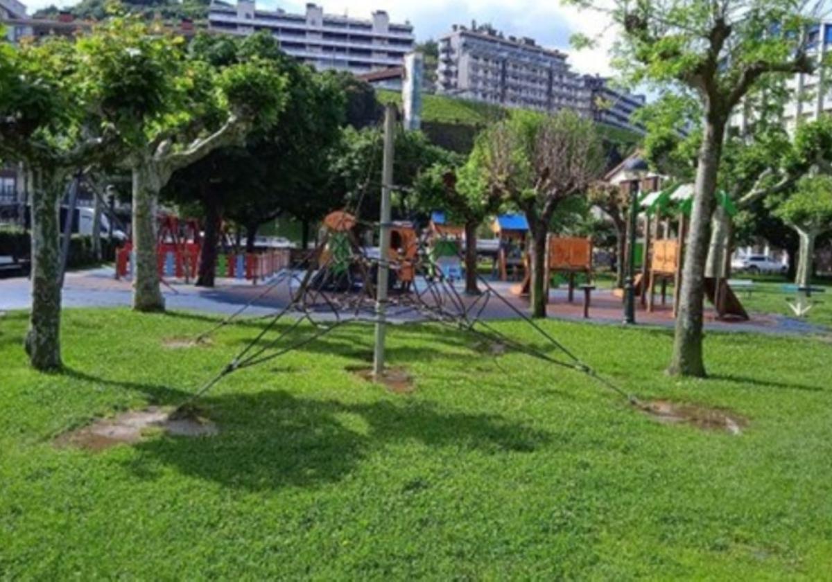
[[[682,270],[676,337],[671,364],[667,370],[674,376],[706,377],[702,354],[705,264],[710,246],[711,215],[724,130],[725,121],[721,118],[709,116],[706,119],[699,150],[699,165],[696,168],[696,190]]]

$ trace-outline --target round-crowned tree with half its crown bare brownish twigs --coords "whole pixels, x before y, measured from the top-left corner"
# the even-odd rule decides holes
[[[546,317],[547,234],[562,203],[586,195],[601,177],[601,138],[592,121],[572,111],[555,116],[515,114],[483,136],[489,188],[521,210],[531,230],[532,316]]]

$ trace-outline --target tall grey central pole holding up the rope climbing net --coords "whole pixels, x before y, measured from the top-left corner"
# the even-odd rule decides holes
[[[390,194],[393,189],[394,136],[396,106],[389,103],[384,110],[384,167],[381,173],[381,222],[379,224],[379,280],[375,302],[375,349],[373,375],[384,373],[384,327],[386,325],[387,291],[389,283],[390,249]]]

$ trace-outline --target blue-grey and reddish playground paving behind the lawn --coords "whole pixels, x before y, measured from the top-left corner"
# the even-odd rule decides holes
[[[491,298],[483,310],[483,317],[489,319],[518,318],[514,309],[525,313],[528,308],[527,300],[518,298],[511,293],[511,284],[493,283],[493,288],[508,303],[498,298]],[[245,316],[262,316],[274,313],[275,309],[284,307],[290,298],[287,284],[279,284],[268,293],[264,285],[236,282],[221,279],[215,289],[201,289],[193,285],[181,283],[163,287],[166,306],[172,310],[201,311],[206,313],[230,314],[235,313],[246,303],[254,300],[253,305],[245,310]],[[29,281],[27,279],[0,280],[0,309],[27,309],[31,304]],[[581,298],[575,303],[568,303],[566,291],[557,289],[551,293],[552,303],[549,305],[551,318],[587,321],[582,318]],[[79,271],[67,274],[63,292],[63,305],[67,308],[92,307],[125,307],[131,301],[131,284],[128,281],[116,281],[113,269],[102,268]],[[473,299],[466,298],[469,305]],[[396,311],[395,309],[391,309]],[[320,317],[326,318],[325,309],[319,310]],[[804,320],[786,318],[780,315],[752,313],[750,322],[730,323],[716,321],[715,313],[706,313],[706,329],[721,332],[745,333],[774,333],[774,334],[829,334],[830,330],[805,322]],[[598,290],[592,299],[590,323],[617,325],[622,322],[621,299],[612,296],[609,291]],[[400,313],[400,318],[413,320],[417,316],[413,312]],[[651,327],[671,328],[673,326],[672,311],[669,305],[657,306],[655,313],[639,310],[636,319],[641,325]]]

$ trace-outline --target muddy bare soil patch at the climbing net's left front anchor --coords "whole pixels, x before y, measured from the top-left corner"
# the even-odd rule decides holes
[[[213,422],[195,413],[174,415],[171,409],[150,407],[114,418],[102,418],[87,427],[65,432],[55,439],[55,445],[105,451],[113,446],[134,445],[158,432],[173,437],[212,437],[219,430]]]

